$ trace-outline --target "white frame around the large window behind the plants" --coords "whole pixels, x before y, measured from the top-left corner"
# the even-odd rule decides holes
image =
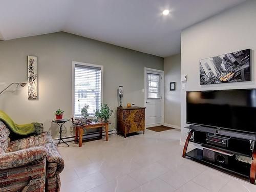
[[[86,63],[86,62],[77,62],[77,61],[72,61],[72,117],[74,118],[75,115],[75,109],[74,109],[74,104],[75,104],[75,65],[80,65],[80,66],[88,66],[88,67],[97,67],[101,69],[101,100],[100,102],[103,103],[103,66],[100,65],[95,65],[91,63]],[[91,116],[90,118],[95,118]]]

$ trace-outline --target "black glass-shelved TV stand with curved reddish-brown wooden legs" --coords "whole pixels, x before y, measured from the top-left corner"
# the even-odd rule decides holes
[[[188,157],[194,161],[219,169],[222,172],[249,179],[250,183],[254,184],[256,177],[256,134],[231,132],[197,125],[190,125],[185,128],[189,129],[189,132],[183,148],[183,158]],[[228,147],[222,147],[207,143],[206,135],[208,133],[230,137],[230,145]],[[189,142],[194,142],[200,144],[202,147],[211,148],[224,153],[250,157],[251,163],[239,161],[237,159],[228,162],[227,164],[208,161],[203,158],[203,150],[200,148],[195,148],[194,150],[187,152]]]

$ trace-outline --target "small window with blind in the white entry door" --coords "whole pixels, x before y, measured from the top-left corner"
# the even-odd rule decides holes
[[[160,98],[160,75],[147,73],[148,80],[148,99],[159,99]]]

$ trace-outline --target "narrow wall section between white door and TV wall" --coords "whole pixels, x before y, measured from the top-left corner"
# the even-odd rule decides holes
[[[175,91],[170,82],[176,82]],[[180,54],[164,58],[164,123],[180,129]]]

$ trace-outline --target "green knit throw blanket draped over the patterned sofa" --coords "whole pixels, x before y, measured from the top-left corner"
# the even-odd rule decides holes
[[[3,121],[8,128],[17,135],[41,134],[44,127],[41,123],[16,124],[3,111],[0,110],[0,120]]]

